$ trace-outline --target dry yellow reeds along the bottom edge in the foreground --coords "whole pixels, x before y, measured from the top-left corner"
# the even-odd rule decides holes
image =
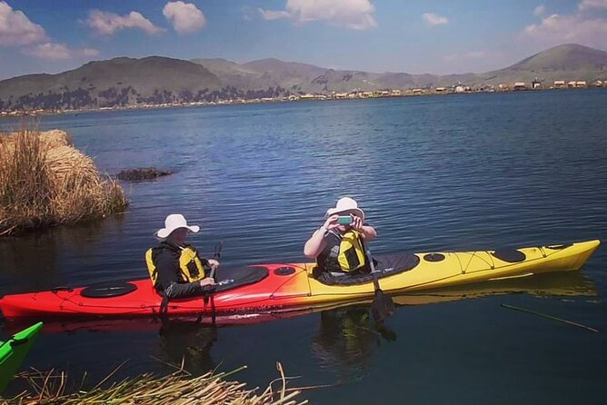
[[[192,377],[183,369],[164,377],[151,373],[141,374],[132,379],[125,379],[104,384],[113,376],[114,370],[104,380],[91,389],[84,389],[85,379],[80,387],[66,393],[66,376],[64,372],[41,372],[34,370],[20,374],[30,390],[14,398],[4,400],[6,405],[63,404],[154,404],[154,405],[301,405],[307,400],[296,400],[301,394],[299,389],[287,389],[287,378],[283,368],[276,363],[281,377],[272,381],[268,387],[259,392],[258,388],[247,389],[246,384],[226,380],[234,373],[244,370],[246,366],[231,372],[214,373],[210,371],[199,377]],[[273,385],[278,383],[278,387]]]

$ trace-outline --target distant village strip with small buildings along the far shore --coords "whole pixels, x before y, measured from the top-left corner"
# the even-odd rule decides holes
[[[354,89],[350,92],[337,93],[332,92],[330,94],[323,93],[303,93],[290,94],[280,97],[263,97],[263,98],[251,98],[251,99],[226,99],[217,100],[214,102],[193,102],[193,103],[181,103],[174,102],[168,104],[128,104],[124,106],[116,105],[112,107],[100,107],[100,108],[85,108],[80,110],[10,110],[0,111],[2,117],[14,117],[21,115],[46,115],[46,114],[69,114],[87,111],[116,111],[116,110],[136,110],[146,108],[174,108],[174,107],[188,107],[188,106],[202,106],[202,105],[217,105],[217,104],[256,104],[256,103],[277,103],[277,102],[295,102],[295,101],[307,101],[307,100],[352,100],[352,99],[368,99],[368,98],[379,98],[379,97],[403,97],[403,96],[417,96],[417,95],[431,95],[431,94],[472,94],[472,93],[503,93],[503,92],[521,92],[528,90],[559,90],[559,89],[585,89],[591,87],[607,87],[607,81],[596,80],[592,83],[587,83],[583,80],[555,80],[552,84],[546,85],[540,80],[533,80],[532,82],[514,82],[513,84],[497,84],[497,85],[466,85],[466,84],[453,84],[452,86],[444,87],[429,87],[429,88],[411,88],[407,90],[402,89],[385,89],[375,91],[365,91],[360,89]]]

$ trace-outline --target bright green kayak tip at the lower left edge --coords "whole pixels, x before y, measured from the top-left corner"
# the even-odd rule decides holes
[[[8,341],[0,342],[0,393],[5,390],[34,345],[42,325],[42,322],[38,322],[24,331],[15,333]]]

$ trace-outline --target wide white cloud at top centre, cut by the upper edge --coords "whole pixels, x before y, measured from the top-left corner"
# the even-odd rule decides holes
[[[287,0],[284,10],[259,9],[266,20],[289,18],[295,23],[325,21],[354,30],[377,26],[370,0]]]

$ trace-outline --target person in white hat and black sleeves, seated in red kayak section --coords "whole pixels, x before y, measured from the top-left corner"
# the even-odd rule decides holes
[[[164,220],[164,228],[156,232],[160,246],[145,252],[145,262],[154,289],[164,299],[203,295],[214,289],[208,277],[219,266],[214,259],[201,259],[193,246],[186,244],[189,232],[198,232],[198,225],[188,225],[181,213],[172,213]]]

